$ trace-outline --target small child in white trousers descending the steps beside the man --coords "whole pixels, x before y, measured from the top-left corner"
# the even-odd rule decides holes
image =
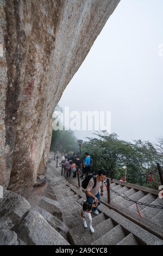
[[[98,202],[91,204],[87,201],[85,201],[83,203],[83,211],[80,213],[80,217],[82,217],[83,219],[83,225],[84,228],[87,228],[87,224],[86,224],[86,220],[89,222],[89,228],[91,233],[94,233],[95,230],[92,227],[92,216],[91,216],[91,211],[92,211],[92,207],[96,207],[98,204]]]

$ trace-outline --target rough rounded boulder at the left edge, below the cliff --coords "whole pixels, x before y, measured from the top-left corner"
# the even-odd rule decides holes
[[[30,204],[19,194],[3,189],[0,198],[0,229],[11,229],[30,209]]]

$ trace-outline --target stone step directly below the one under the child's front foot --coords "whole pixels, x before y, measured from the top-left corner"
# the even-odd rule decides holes
[[[118,224],[99,239],[92,242],[91,245],[117,245],[124,237],[126,237],[126,234],[121,225]]]

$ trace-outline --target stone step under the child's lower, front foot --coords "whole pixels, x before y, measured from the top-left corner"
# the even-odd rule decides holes
[[[87,230],[84,237],[82,237],[76,245],[90,245],[93,241],[99,239],[99,237],[103,236],[108,230],[114,227],[114,222],[112,222],[111,218],[108,218],[94,227],[95,233],[92,234],[90,230]]]

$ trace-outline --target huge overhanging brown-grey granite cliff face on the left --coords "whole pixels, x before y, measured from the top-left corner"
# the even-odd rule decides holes
[[[0,184],[46,172],[52,114],[120,0],[0,0]]]

